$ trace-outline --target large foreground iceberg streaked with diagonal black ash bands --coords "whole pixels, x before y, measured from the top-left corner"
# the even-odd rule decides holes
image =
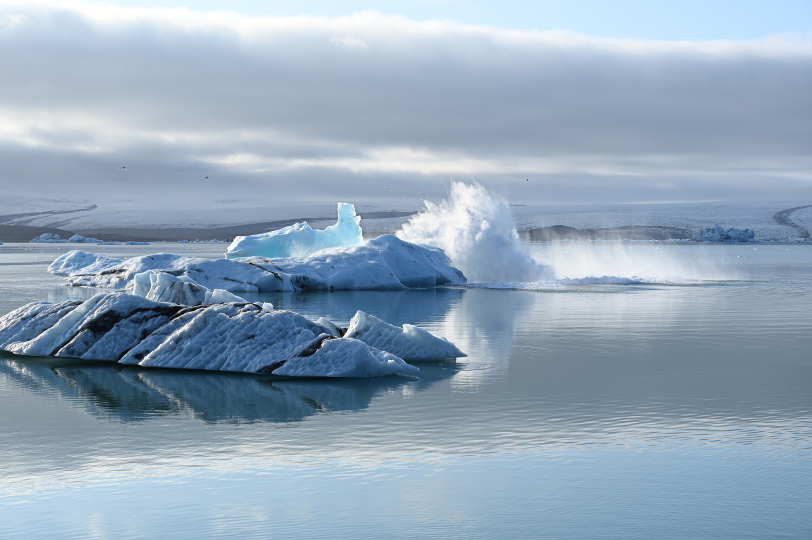
[[[248,302],[184,306],[126,293],[24,305],[0,318],[0,348],[17,354],[299,377],[418,371],[298,313]]]

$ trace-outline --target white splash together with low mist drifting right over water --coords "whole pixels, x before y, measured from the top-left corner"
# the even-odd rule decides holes
[[[470,283],[549,288],[590,283],[690,283],[735,279],[704,246],[661,242],[544,242],[519,239],[507,202],[480,184],[451,184],[439,203],[397,232],[403,240],[443,248]],[[542,262],[543,261],[543,262]]]

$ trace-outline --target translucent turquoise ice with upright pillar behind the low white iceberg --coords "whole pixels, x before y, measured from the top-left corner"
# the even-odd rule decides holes
[[[355,206],[339,202],[338,221],[323,231],[300,222],[261,235],[237,236],[228,246],[226,258],[305,257],[325,248],[342,248],[363,241],[361,217],[356,215]]]

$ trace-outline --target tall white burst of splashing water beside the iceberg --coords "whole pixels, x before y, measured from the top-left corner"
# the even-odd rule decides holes
[[[451,184],[447,199],[425,201],[396,233],[403,240],[445,250],[470,282],[530,282],[552,279],[552,271],[530,256],[519,240],[505,201],[480,184]]]

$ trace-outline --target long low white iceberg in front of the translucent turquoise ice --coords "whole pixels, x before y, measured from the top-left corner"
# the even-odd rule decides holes
[[[73,250],[49,266],[76,286],[133,291],[136,274],[149,270],[187,276],[208,289],[229,292],[403,289],[465,283],[442,249],[382,235],[309,257],[206,259],[157,253],[129,259]]]

